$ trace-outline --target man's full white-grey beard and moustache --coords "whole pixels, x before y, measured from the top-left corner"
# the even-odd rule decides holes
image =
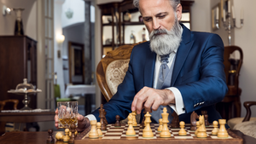
[[[177,19],[170,31],[165,28],[153,30],[149,35],[149,39],[151,51],[154,51],[158,55],[171,54],[174,49],[178,48],[182,41],[182,31]]]

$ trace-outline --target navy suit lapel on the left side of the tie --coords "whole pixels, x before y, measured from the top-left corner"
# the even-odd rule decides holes
[[[153,83],[154,83],[155,56],[156,54],[150,51],[147,55],[147,60],[144,67],[144,86],[147,86],[150,88],[153,88]]]

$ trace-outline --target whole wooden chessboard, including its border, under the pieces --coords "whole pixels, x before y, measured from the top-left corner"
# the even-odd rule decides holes
[[[84,134],[81,133],[77,135],[77,139],[75,140],[75,144],[82,143],[97,143],[104,142],[105,143],[166,143],[168,141],[172,141],[173,143],[183,143],[189,142],[191,144],[196,143],[218,143],[218,144],[241,144],[242,139],[238,135],[234,134],[232,131],[228,130],[229,137],[227,138],[218,138],[217,135],[212,135],[213,127],[212,125],[207,126],[207,138],[197,138],[195,135],[195,131],[190,130],[190,124],[185,125],[185,130],[187,131],[187,135],[181,136],[178,135],[178,131],[180,129],[172,129],[169,126],[169,130],[171,132],[170,138],[160,138],[160,132],[157,131],[159,124],[150,124],[151,130],[154,133],[154,137],[152,138],[143,138],[143,126],[141,124],[137,124],[137,127],[134,127],[136,131],[136,135],[125,135],[126,130],[128,128],[128,124],[121,125],[120,127],[115,127],[114,124],[108,124],[107,130],[102,130],[102,137],[97,139],[89,138],[89,131],[87,130]],[[79,139],[78,139],[79,138]]]

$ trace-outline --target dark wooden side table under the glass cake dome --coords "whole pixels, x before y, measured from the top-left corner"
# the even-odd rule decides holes
[[[54,120],[55,112],[0,112],[0,134],[4,133],[7,122],[33,123]]]

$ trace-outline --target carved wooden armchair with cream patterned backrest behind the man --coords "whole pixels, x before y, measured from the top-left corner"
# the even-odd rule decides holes
[[[131,50],[135,45],[122,45],[102,58],[96,68],[96,79],[106,101],[109,101],[117,92],[117,87],[125,78],[125,73],[128,70]],[[137,123],[140,119],[140,114],[137,114]],[[127,118],[121,121],[121,124],[126,124]]]

